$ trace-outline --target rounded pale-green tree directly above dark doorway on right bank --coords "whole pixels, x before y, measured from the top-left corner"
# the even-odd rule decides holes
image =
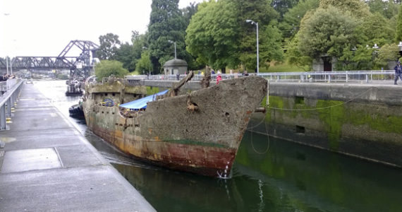
[[[341,57],[347,45],[355,45],[358,22],[334,6],[318,8],[303,22],[298,33],[302,54],[318,59],[324,54]]]

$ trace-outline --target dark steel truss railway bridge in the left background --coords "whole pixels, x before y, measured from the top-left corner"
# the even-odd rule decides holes
[[[73,48],[78,47],[81,53],[77,57],[67,57],[66,54]],[[94,67],[94,59],[99,46],[88,40],[71,40],[57,57],[13,57],[11,62],[0,58],[0,69],[19,71],[50,71],[70,70],[71,78],[87,78]]]

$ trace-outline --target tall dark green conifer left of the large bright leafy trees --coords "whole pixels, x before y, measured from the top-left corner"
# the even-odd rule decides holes
[[[148,43],[153,70],[159,73],[167,59],[173,59],[176,42],[179,58],[185,56],[185,20],[178,9],[178,0],[152,0]]]

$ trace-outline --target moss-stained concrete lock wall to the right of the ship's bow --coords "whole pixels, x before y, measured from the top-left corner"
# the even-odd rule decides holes
[[[255,113],[250,127],[288,141],[402,167],[398,86],[270,83],[269,109],[266,114]]]

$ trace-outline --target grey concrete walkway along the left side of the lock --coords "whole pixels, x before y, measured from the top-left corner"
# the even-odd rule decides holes
[[[0,131],[0,211],[155,211],[32,84],[11,121]]]

